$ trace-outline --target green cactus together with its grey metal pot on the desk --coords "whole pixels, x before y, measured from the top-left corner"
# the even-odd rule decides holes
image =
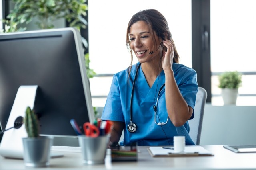
[[[53,137],[39,135],[39,123],[34,110],[28,106],[23,119],[28,137],[22,138],[25,166],[48,166]]]

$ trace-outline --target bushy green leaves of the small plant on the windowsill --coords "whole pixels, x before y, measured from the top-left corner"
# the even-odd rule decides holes
[[[219,78],[219,88],[239,88],[242,86],[242,75],[237,72],[224,72],[218,76]]]

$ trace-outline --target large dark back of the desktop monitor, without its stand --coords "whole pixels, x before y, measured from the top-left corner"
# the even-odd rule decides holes
[[[84,122],[93,122],[82,41],[76,29],[0,34],[2,130],[22,85],[38,85],[34,110],[40,134],[72,136],[76,133],[70,119],[75,119],[80,127]]]

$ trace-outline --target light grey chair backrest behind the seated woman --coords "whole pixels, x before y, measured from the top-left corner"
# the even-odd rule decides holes
[[[207,92],[204,88],[199,87],[196,94],[196,105],[194,108],[194,118],[188,120],[190,131],[189,135],[196,145],[200,145],[202,123],[204,117],[204,106],[207,98]]]

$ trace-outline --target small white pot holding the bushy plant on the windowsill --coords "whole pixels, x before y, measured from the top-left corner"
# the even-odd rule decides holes
[[[224,105],[236,104],[236,99],[238,96],[238,88],[222,88],[221,95],[223,98]]]

